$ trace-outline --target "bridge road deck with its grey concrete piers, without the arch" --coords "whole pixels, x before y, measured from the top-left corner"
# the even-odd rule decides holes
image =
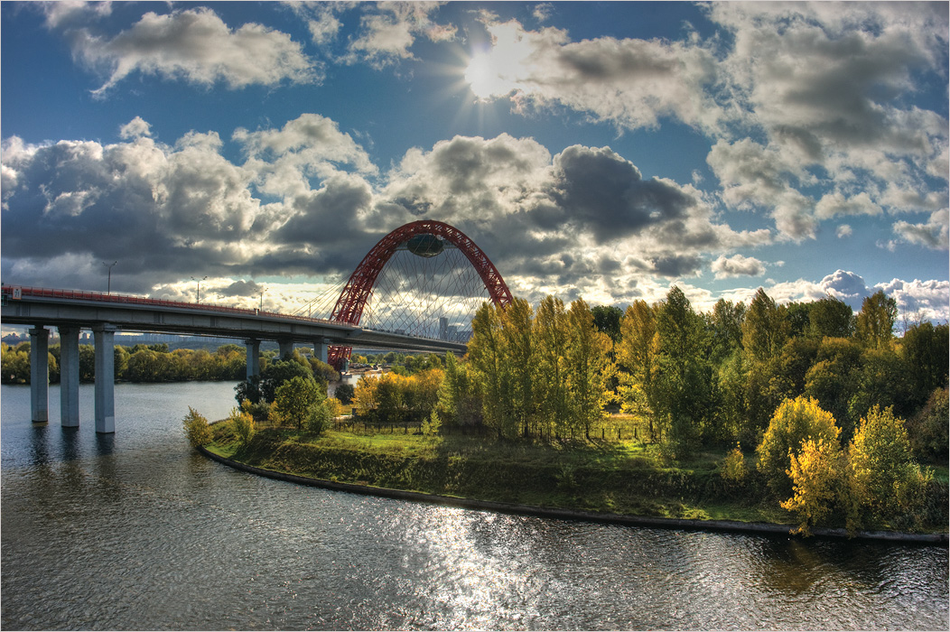
[[[92,330],[97,432],[115,431],[113,353],[118,331],[243,338],[248,378],[260,373],[262,340],[275,340],[281,357],[293,353],[296,343],[313,345],[314,354],[324,362],[327,347],[332,344],[434,353],[466,351],[466,345],[459,342],[218,305],[18,286],[4,286],[0,296],[0,321],[30,326],[30,410],[34,422],[49,420],[46,327],[56,327],[60,335],[60,419],[66,428],[79,426],[79,333],[81,329]],[[101,375],[108,378],[100,379]]]

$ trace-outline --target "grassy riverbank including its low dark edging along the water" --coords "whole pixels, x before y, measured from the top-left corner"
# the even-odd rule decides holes
[[[723,479],[713,455],[661,467],[650,450],[617,442],[525,445],[465,436],[315,437],[264,429],[237,447],[223,428],[207,456],[257,475],[401,500],[566,520],[788,535],[793,517],[769,498],[754,470]],[[513,483],[517,482],[517,483]],[[942,486],[946,496],[946,486]],[[852,537],[947,544],[939,527],[919,533],[863,531]],[[849,537],[843,528],[813,528]]]

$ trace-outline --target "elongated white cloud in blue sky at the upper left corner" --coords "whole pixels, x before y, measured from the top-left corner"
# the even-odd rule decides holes
[[[66,37],[74,57],[108,76],[93,90],[97,95],[135,71],[199,86],[222,82],[232,89],[322,78],[318,64],[287,34],[254,23],[230,29],[207,8],[149,11],[115,37],[86,28],[67,30]]]

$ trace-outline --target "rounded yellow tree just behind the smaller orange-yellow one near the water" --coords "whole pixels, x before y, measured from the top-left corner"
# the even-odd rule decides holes
[[[769,429],[755,449],[755,467],[765,475],[776,496],[787,498],[792,493],[789,455],[798,454],[808,439],[837,443],[840,434],[834,417],[823,411],[814,398],[787,399],[772,415]]]

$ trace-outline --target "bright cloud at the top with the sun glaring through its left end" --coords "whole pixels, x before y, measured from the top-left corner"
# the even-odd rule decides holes
[[[483,19],[492,48],[477,58],[472,86],[482,98],[510,98],[522,110],[563,105],[618,129],[656,127],[663,117],[699,126],[718,116],[703,90],[714,79],[704,48],[613,37],[571,42],[565,30]]]

